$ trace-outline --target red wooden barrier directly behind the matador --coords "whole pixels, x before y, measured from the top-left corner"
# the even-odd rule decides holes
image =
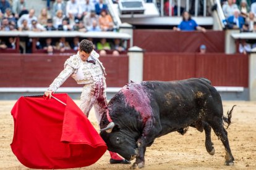
[[[0,87],[48,87],[63,69],[70,55],[2,54],[0,57]],[[128,57],[100,57],[106,68],[108,87],[122,87],[128,82]],[[81,87],[68,78],[62,87]]]

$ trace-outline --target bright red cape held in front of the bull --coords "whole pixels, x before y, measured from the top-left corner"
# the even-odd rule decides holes
[[[28,168],[58,169],[89,166],[106,152],[106,144],[67,94],[55,99],[20,97],[12,108],[11,148]]]

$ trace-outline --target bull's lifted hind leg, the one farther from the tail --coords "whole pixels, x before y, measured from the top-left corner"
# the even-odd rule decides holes
[[[203,129],[205,130],[205,147],[210,155],[215,154],[213,143],[211,142],[211,126],[203,121]]]

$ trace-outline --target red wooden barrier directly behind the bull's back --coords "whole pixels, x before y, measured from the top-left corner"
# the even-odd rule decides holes
[[[248,87],[248,56],[146,52],[143,80],[208,78],[213,86]]]

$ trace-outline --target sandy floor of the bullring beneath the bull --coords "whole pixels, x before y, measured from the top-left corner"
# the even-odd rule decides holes
[[[10,111],[14,103],[13,100],[0,101],[0,169],[28,169],[17,160],[10,147],[14,124]],[[233,112],[234,124],[228,129],[229,144],[236,160],[234,166],[224,166],[224,147],[213,132],[215,155],[211,156],[205,149],[205,133],[190,127],[184,136],[173,132],[156,139],[147,149],[144,169],[256,169],[256,102],[223,102],[224,113],[234,104],[237,105]],[[93,110],[89,119],[96,125]],[[92,166],[77,169],[129,168],[130,165],[109,164],[106,152]]]

